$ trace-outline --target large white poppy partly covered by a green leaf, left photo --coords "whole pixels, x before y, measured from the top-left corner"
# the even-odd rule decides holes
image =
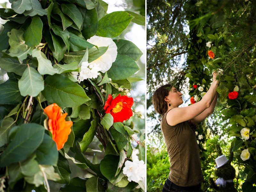
[[[111,68],[112,63],[116,60],[117,56],[117,46],[111,38],[108,37],[99,37],[92,36],[87,41],[91,44],[94,44],[98,47],[108,47],[108,50],[101,55],[98,59],[92,61],[90,64],[98,64],[100,71],[105,73],[108,69]]]

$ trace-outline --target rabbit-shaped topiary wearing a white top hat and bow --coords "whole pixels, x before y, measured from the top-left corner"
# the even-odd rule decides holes
[[[216,170],[214,172],[214,175],[218,177],[218,179],[216,180],[216,183],[215,183],[212,178],[209,178],[210,188],[213,188],[216,191],[221,191],[221,192],[222,191],[236,192],[237,190],[234,186],[234,181],[233,181],[234,178],[236,177],[236,170],[231,165],[234,154],[230,148],[229,149],[230,155],[227,160],[226,156],[222,155],[219,144],[216,145],[216,149],[219,154],[219,157],[215,159],[217,166],[215,166]]]

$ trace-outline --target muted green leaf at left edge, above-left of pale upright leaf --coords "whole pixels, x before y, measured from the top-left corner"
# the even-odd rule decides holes
[[[23,72],[27,68],[27,65],[20,63],[17,57],[10,57],[4,52],[0,52],[0,67],[6,72],[13,72],[19,76],[22,76]]]

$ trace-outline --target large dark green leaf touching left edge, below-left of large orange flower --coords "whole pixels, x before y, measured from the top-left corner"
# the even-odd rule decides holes
[[[43,126],[35,123],[22,124],[17,129],[12,142],[7,146],[4,153],[1,154],[0,166],[5,167],[27,159],[39,147],[43,138]]]

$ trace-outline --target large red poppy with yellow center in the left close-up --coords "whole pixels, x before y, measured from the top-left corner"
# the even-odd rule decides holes
[[[132,97],[120,96],[120,94],[113,99],[111,95],[108,95],[108,99],[105,103],[105,113],[110,113],[115,122],[123,122],[132,116]]]

